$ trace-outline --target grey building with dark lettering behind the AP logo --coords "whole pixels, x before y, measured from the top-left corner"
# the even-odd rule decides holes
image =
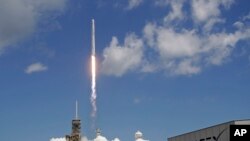
[[[168,141],[229,141],[230,125],[250,125],[250,120],[234,120],[168,138]]]

